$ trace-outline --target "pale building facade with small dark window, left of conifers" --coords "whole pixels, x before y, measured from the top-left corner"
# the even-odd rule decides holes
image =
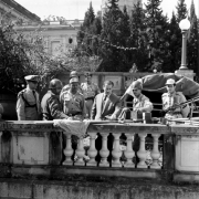
[[[24,34],[38,30],[45,41],[46,52],[57,56],[71,53],[76,46],[76,34],[82,23],[80,20],[28,22],[15,27],[15,30]]]

